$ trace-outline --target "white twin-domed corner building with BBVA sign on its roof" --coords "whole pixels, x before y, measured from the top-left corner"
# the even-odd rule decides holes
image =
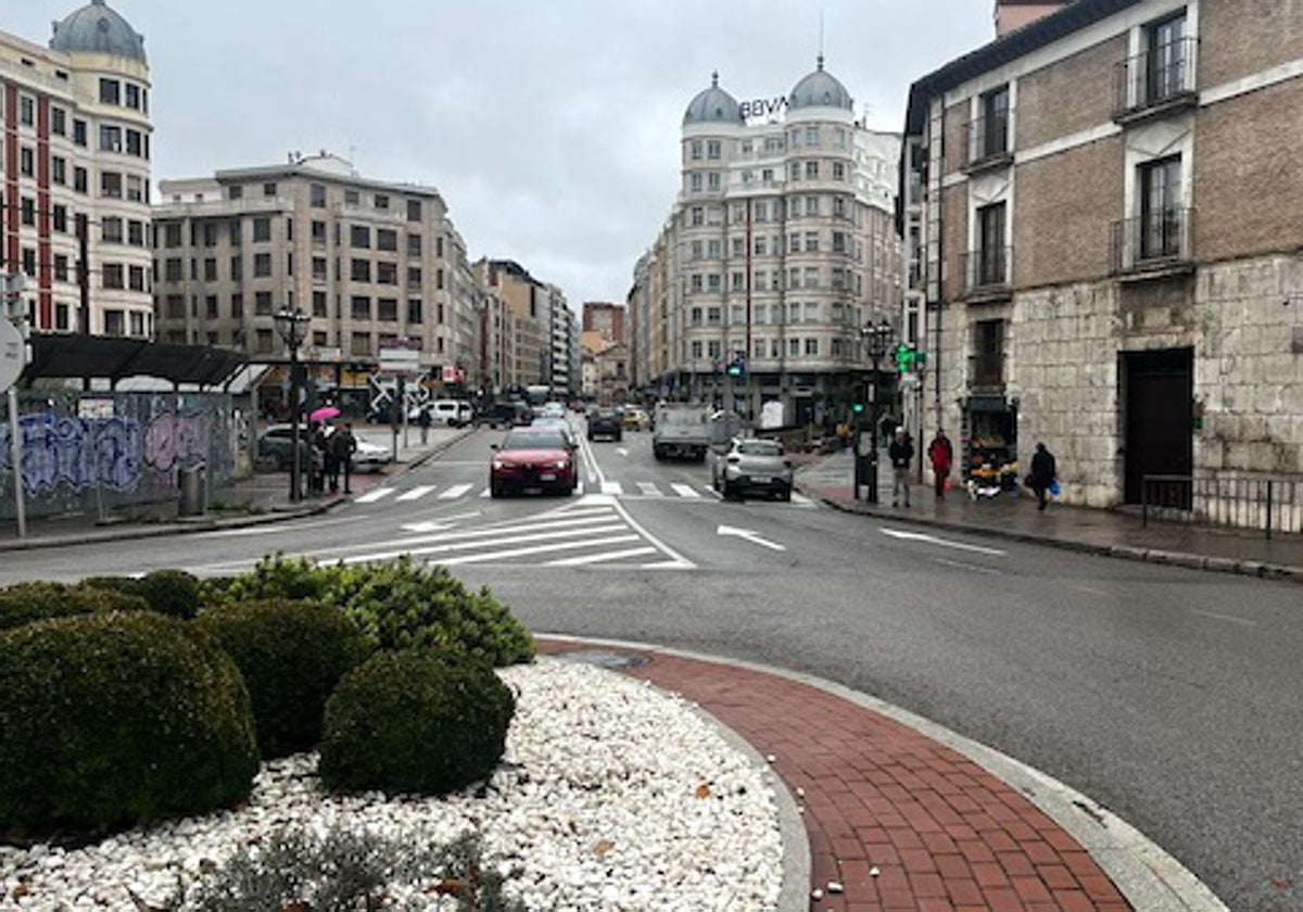
[[[860,327],[900,326],[900,137],[864,125],[822,57],[786,95],[744,98],[717,74],[684,112],[679,194],[628,297],[633,382],[820,423],[872,374]]]

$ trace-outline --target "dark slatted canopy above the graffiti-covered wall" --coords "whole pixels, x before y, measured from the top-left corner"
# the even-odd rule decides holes
[[[30,387],[42,378],[108,379],[156,377],[176,386],[215,387],[225,383],[249,356],[207,345],[172,345],[143,339],[116,339],[82,334],[33,334],[31,361],[18,384]]]

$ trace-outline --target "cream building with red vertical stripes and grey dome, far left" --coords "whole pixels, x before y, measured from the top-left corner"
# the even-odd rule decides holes
[[[0,159],[0,181],[20,211],[8,225],[33,328],[152,339],[143,35],[107,0],[91,0],[53,23],[48,48],[0,31],[0,109],[17,143],[16,162]],[[78,216],[94,266],[90,313],[77,284]]]

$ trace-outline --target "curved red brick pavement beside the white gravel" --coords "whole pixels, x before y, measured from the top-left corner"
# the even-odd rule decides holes
[[[543,653],[592,646],[541,641]],[[761,754],[803,806],[816,912],[1124,912],[1095,860],[1022,793],[870,709],[786,677],[637,651]],[[829,881],[843,885],[829,894]],[[784,911],[788,912],[788,911]]]

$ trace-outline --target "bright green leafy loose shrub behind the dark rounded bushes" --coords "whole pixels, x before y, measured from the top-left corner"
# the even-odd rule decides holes
[[[205,581],[208,605],[314,599],[341,610],[373,649],[455,650],[494,666],[530,662],[534,640],[487,586],[468,590],[447,568],[403,555],[388,563],[318,567],[268,555],[250,573]]]

